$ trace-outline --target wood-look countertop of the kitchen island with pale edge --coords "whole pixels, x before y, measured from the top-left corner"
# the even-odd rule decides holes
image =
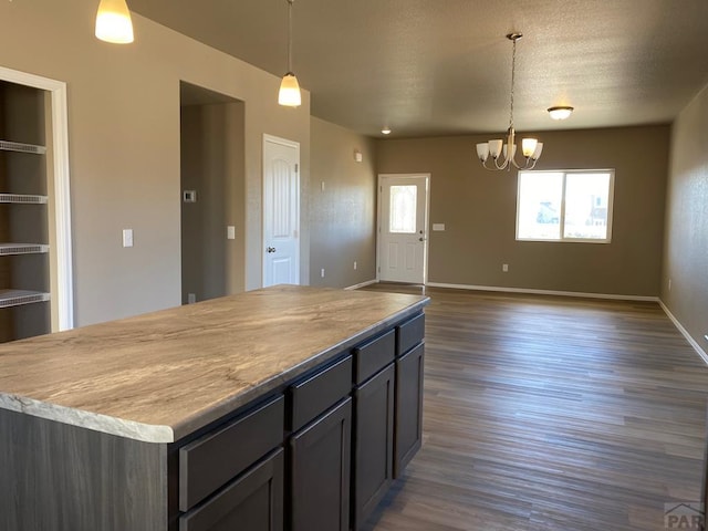
[[[173,442],[428,298],[279,285],[0,345],[0,407]]]

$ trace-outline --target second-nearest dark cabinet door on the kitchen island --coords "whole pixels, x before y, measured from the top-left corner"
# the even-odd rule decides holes
[[[352,399],[290,439],[292,531],[348,531]]]

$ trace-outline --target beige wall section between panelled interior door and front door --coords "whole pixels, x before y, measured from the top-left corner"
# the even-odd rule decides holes
[[[319,118],[312,118],[311,127],[310,284],[345,288],[374,280],[374,140]],[[361,163],[354,160],[355,149],[362,153]]]

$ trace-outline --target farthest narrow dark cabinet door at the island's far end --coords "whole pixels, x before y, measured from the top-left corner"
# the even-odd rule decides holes
[[[425,346],[396,360],[396,429],[394,478],[420,449],[423,442],[423,365]]]

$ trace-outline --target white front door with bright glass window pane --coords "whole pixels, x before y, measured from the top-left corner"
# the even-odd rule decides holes
[[[378,280],[424,284],[429,175],[378,176]]]

